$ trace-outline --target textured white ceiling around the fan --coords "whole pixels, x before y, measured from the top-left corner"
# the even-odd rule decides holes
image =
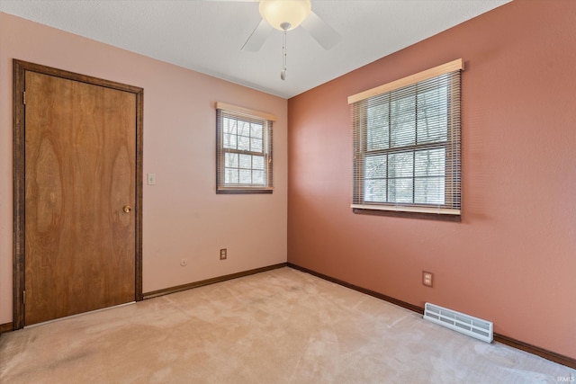
[[[261,20],[253,1],[0,0],[0,12],[289,98],[509,1],[312,0],[343,39],[325,50],[289,31],[285,81],[281,31],[240,50]]]

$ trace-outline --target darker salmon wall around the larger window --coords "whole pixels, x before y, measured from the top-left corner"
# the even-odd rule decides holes
[[[516,0],[290,99],[289,263],[576,358],[575,21]],[[455,58],[462,222],[353,214],[347,96]]]

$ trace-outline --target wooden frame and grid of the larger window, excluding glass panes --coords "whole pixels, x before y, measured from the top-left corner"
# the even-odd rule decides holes
[[[461,127],[460,127],[460,97],[461,97],[461,81],[460,73],[464,70],[464,60],[459,58],[452,62],[446,63],[444,65],[430,68],[426,71],[420,72],[418,74],[401,78],[399,80],[393,81],[386,85],[380,85],[368,91],[362,92],[360,94],[355,94],[348,97],[348,104],[350,104],[350,111],[352,115],[353,124],[353,136],[354,136],[354,159],[353,159],[353,169],[354,169],[354,187],[353,187],[353,203],[351,208],[354,213],[360,214],[373,214],[373,215],[383,215],[383,216],[395,216],[395,217],[410,217],[419,219],[442,219],[449,221],[460,221],[461,220],[461,148],[460,148],[460,138],[461,138]],[[386,103],[384,97],[390,96],[395,92],[401,92],[407,90],[409,87],[415,87],[416,90],[413,93],[415,97],[415,103],[418,99],[418,85],[423,84],[426,81],[435,81],[441,76],[457,76],[458,82],[457,87],[449,88],[449,92],[446,94],[446,100],[448,101],[447,108],[455,108],[455,116],[450,113],[447,114],[448,119],[457,119],[457,121],[449,121],[446,123],[446,141],[440,142],[435,141],[430,144],[419,144],[417,141],[417,135],[415,130],[415,141],[413,144],[406,145],[404,147],[392,147],[388,146],[385,149],[375,149],[368,150],[368,108],[374,105],[383,105]],[[454,87],[453,83],[448,84],[449,87]],[[435,88],[439,89],[439,87]],[[454,94],[453,94],[454,91]],[[456,100],[457,98],[457,100]],[[381,100],[382,99],[382,100]],[[454,100],[453,100],[454,99]],[[388,99],[390,110],[390,103],[392,99]],[[376,101],[374,104],[373,102]],[[452,105],[451,103],[455,104]],[[452,112],[452,111],[451,111]],[[390,112],[392,113],[392,112]],[[392,116],[392,115],[390,115]],[[388,121],[384,124],[388,124],[391,127],[392,117],[389,116]],[[414,121],[418,121],[417,110],[415,109]],[[416,127],[416,126],[415,126]],[[416,129],[416,128],[415,128]],[[390,128],[388,130],[390,131]],[[390,133],[389,133],[390,134]],[[411,176],[412,184],[412,202],[394,202],[389,201],[388,196],[386,196],[386,201],[367,201],[365,195],[365,159],[370,156],[377,156],[377,154],[385,155],[388,159],[391,154],[394,153],[404,153],[411,154],[412,159],[417,156],[419,150],[429,150],[434,148],[446,148],[445,157],[445,171],[442,174],[444,177],[444,192],[445,201],[444,203],[423,203],[414,202],[416,199],[416,180],[419,177],[425,179],[424,176],[417,176],[416,171],[413,171]],[[390,169],[390,166],[386,163],[386,173]],[[416,165],[413,165],[414,169]],[[428,177],[428,176],[426,176]],[[393,180],[389,178],[386,174],[386,193],[389,192],[388,181]],[[452,189],[455,187],[455,189]]]

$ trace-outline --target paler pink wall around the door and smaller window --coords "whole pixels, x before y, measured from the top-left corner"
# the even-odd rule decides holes
[[[144,88],[144,174],[157,174],[143,192],[145,293],[286,262],[285,99],[0,13],[0,324],[12,322],[13,58]],[[277,116],[273,194],[216,195],[216,101]]]

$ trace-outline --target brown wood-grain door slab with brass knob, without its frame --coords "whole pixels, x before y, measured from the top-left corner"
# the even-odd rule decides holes
[[[139,95],[80,80],[23,73],[24,326],[141,296]]]

